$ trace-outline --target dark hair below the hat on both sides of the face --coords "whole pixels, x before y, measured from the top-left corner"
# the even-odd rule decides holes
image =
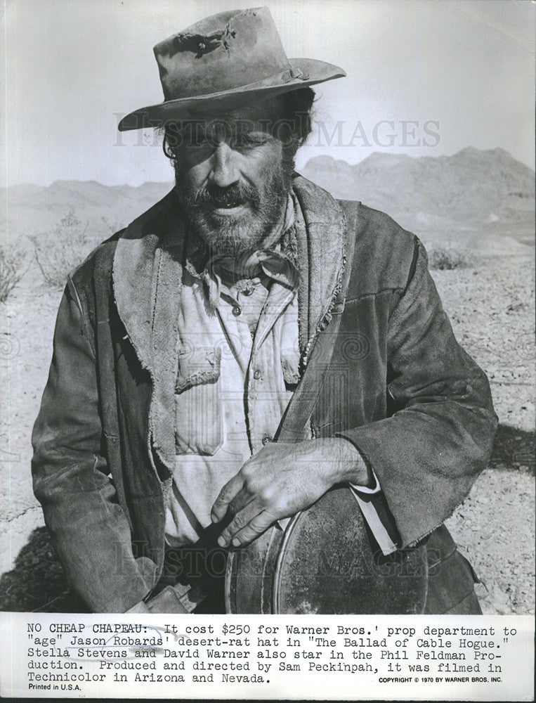
[[[284,129],[282,141],[287,153],[294,155],[298,148],[305,143],[311,134],[311,108],[315,99],[315,92],[308,86],[294,91],[288,91],[276,96],[273,101],[274,117],[271,122],[273,134],[280,136],[281,128]],[[168,122],[164,125],[164,141],[162,149],[171,161],[175,160],[174,145],[180,143],[178,131],[184,124],[191,122]]]

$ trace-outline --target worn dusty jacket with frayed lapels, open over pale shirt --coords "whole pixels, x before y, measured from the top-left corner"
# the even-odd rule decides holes
[[[401,545],[415,544],[488,462],[497,423],[488,381],[455,340],[417,237],[301,176],[293,190],[303,364],[330,323],[343,266],[349,276],[313,436],[358,447]],[[58,311],[32,435],[34,492],[70,582],[96,612],[128,610],[162,572],[181,222],[172,191],[72,272]]]

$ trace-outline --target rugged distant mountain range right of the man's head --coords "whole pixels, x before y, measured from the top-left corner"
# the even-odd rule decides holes
[[[319,156],[301,173],[337,198],[423,224],[525,224],[535,207],[534,172],[503,149],[468,147],[453,156],[419,158],[376,152],[353,166]]]

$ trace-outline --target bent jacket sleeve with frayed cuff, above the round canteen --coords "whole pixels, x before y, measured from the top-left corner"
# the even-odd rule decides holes
[[[411,546],[438,527],[488,463],[497,426],[488,380],[457,343],[415,238],[414,273],[388,324],[391,417],[340,436],[370,462]]]

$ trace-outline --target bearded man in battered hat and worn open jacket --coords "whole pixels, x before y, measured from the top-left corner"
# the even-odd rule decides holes
[[[240,549],[348,484],[384,554],[438,553],[424,612],[480,612],[443,521],[490,455],[488,382],[419,240],[294,172],[310,86],[344,71],[287,59],[266,8],[155,56],[164,103],[119,129],[162,128],[176,186],[69,276],[34,427],[72,586],[93,611],[144,610],[211,524]],[[304,373],[311,412],[277,441]]]

